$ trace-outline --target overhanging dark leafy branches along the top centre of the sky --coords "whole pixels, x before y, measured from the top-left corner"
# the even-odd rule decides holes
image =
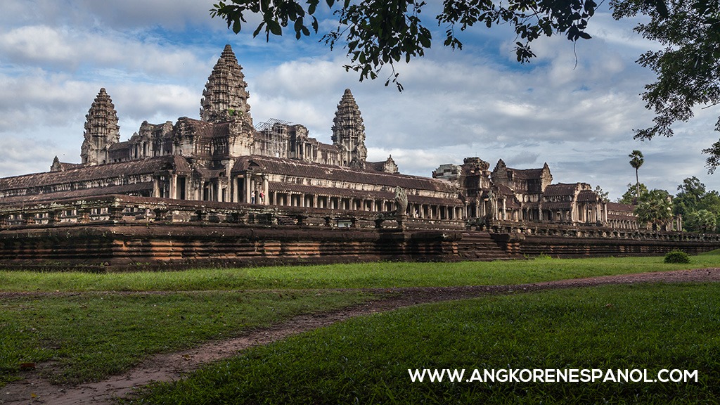
[[[644,0],[654,2],[654,0]],[[325,32],[322,41],[334,48],[346,48],[350,63],[346,70],[359,72],[360,80],[376,79],[382,67],[390,65],[385,85],[397,82],[395,63],[410,62],[423,56],[431,48],[432,35],[426,27],[427,19],[420,13],[426,6],[423,0],[325,0],[338,19],[335,30]],[[260,14],[262,19],[253,32],[282,35],[294,32],[297,39],[318,33],[315,17],[320,0],[230,0],[220,1],[210,10],[212,17],[221,17],[235,33],[243,29],[248,14]],[[443,11],[433,22],[445,29],[443,44],[462,49],[458,34],[474,25],[491,28],[510,25],[516,34],[516,57],[519,62],[530,61],[535,54],[530,43],[541,36],[565,35],[573,42],[590,39],[586,32],[590,17],[598,4],[594,0],[444,0]]]

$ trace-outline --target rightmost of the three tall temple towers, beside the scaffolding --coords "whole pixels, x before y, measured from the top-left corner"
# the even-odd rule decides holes
[[[367,158],[365,125],[350,89],[345,89],[333,119],[333,145],[338,146],[343,166],[364,167]]]

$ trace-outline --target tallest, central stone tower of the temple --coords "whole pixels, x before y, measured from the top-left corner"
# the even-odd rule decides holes
[[[247,86],[243,68],[238,64],[233,48],[230,44],[225,45],[202,92],[201,119],[208,123],[240,119],[252,125]]]

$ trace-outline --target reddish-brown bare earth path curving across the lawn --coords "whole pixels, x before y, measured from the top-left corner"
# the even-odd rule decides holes
[[[557,288],[591,287],[636,282],[718,282],[720,268],[615,275],[583,279],[536,282],[520,285],[487,285],[467,287],[393,288],[370,290],[393,293],[390,298],[363,303],[328,313],[295,316],[267,329],[248,331],[243,336],[202,344],[199,347],[165,355],[156,355],[122,375],[80,386],[53,386],[48,380],[30,373],[22,381],[1,388],[0,404],[113,404],[113,398],[126,396],[132,388],[151,381],[177,380],[204,363],[238,354],[248,347],[268,344],[302,331],[328,326],[354,316],[390,311],[418,303],[449,301],[490,294],[507,294]]]

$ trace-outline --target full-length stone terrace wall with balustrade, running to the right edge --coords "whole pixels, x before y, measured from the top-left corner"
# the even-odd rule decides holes
[[[313,208],[105,196],[0,206],[0,263],[11,269],[158,270],[688,253],[719,235],[495,222],[428,221]]]

